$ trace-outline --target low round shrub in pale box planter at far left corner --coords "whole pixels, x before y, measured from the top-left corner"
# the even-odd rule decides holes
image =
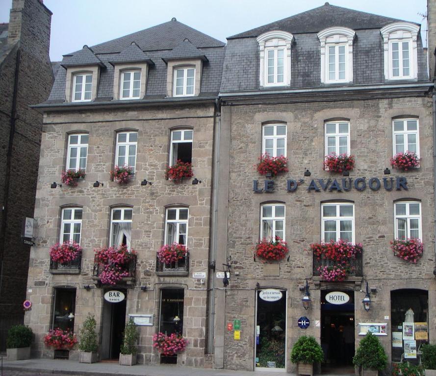
[[[7,332],[6,355],[7,360],[30,359],[30,344],[32,329],[26,325],[15,325]]]

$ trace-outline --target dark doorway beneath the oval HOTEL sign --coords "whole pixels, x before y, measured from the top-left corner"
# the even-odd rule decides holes
[[[354,374],[354,291],[321,291],[322,373]]]

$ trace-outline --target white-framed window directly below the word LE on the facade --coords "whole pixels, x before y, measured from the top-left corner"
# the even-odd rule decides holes
[[[260,207],[260,234],[262,239],[285,240],[285,208],[283,204],[265,204]]]

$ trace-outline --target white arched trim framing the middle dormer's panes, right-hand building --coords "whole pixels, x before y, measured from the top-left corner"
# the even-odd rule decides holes
[[[356,31],[342,26],[328,27],[318,34],[321,45],[321,83],[353,82],[353,41]],[[329,80],[328,47],[345,46],[345,79]]]

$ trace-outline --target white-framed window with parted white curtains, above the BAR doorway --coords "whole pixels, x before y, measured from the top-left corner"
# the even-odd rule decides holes
[[[132,239],[132,208],[113,208],[110,212],[110,247],[126,245]]]

